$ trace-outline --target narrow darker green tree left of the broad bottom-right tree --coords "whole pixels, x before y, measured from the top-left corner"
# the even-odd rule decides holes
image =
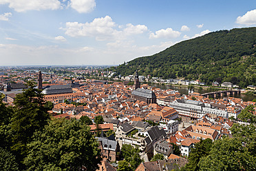
[[[195,148],[189,152],[189,163],[185,166],[186,170],[199,170],[198,162],[210,154],[212,145],[213,141],[211,139],[201,139],[200,142],[195,143]]]

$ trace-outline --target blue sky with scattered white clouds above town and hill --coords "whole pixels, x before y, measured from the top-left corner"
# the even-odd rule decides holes
[[[255,26],[255,0],[0,0],[0,66],[119,65]]]

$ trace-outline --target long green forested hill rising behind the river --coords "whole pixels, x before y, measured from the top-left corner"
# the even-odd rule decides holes
[[[256,86],[255,45],[256,28],[220,30],[111,69],[122,76],[138,70],[140,75],[163,79],[200,79],[206,84],[230,81],[242,88]]]

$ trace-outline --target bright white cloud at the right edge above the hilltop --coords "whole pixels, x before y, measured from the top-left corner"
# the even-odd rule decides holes
[[[246,12],[242,17],[237,17],[236,23],[244,24],[247,26],[256,24],[256,9]]]

